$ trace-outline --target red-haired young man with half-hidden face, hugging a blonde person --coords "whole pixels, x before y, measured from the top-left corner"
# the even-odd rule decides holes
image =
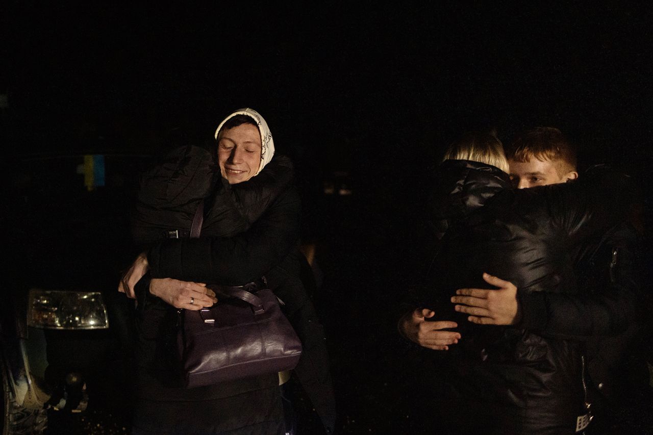
[[[578,177],[573,146],[553,127],[538,127],[520,135],[509,149],[508,159],[511,180],[518,188]],[[621,224],[577,247],[573,258],[579,293],[571,297],[548,292],[524,295],[517,293],[512,283],[485,274],[484,280],[498,289],[460,289],[451,299],[456,311],[469,314],[473,323],[518,325],[562,340],[584,341],[586,357],[579,371],[585,370],[586,402],[594,402],[588,415],[594,411],[600,419],[592,425],[592,433],[618,427],[620,423],[609,416],[623,408],[633,385],[645,383],[646,363],[628,359],[642,323],[634,265],[636,241],[634,230]],[[400,331],[409,340],[436,350],[447,350],[458,339],[465,339],[443,330],[455,327],[451,322],[424,321],[434,315],[423,309],[407,313],[400,320]],[[633,375],[629,383],[614,376],[623,371],[624,363],[629,363],[629,375]],[[578,423],[582,428],[588,419],[580,416]]]

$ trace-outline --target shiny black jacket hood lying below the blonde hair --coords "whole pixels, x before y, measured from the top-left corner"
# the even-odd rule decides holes
[[[510,178],[497,167],[470,160],[445,160],[439,167],[432,197],[436,218],[469,216],[505,189],[512,190]]]

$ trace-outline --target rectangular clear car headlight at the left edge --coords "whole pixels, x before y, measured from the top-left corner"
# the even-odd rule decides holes
[[[31,289],[27,325],[44,329],[106,329],[102,294],[83,291]]]

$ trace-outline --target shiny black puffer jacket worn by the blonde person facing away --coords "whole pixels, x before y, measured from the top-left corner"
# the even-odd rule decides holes
[[[452,394],[505,408],[486,422],[488,430],[573,433],[576,417],[584,413],[581,349],[554,334],[475,325],[453,311],[449,298],[462,287],[487,287],[483,272],[515,283],[520,298],[540,291],[577,293],[571,248],[618,219],[618,204],[601,204],[620,188],[619,181],[586,176],[573,184],[517,191],[507,174],[492,166],[470,161],[441,166],[433,212],[444,236],[421,305],[459,325],[460,344],[436,356],[451,368]]]

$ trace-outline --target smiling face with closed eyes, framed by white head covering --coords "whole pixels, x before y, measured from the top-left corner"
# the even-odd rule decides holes
[[[242,183],[255,176],[261,165],[261,133],[256,125],[240,124],[220,131],[217,161],[229,184]]]

